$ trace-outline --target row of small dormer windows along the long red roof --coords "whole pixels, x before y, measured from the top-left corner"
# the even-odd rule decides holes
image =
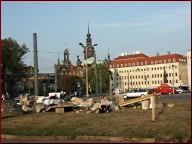
[[[179,60],[179,61],[181,61],[181,60]],[[173,58],[173,59],[164,59],[164,60],[155,60],[155,61],[151,61],[151,63],[150,64],[162,64],[162,63],[171,63],[171,62],[176,62],[176,59],[175,58]],[[186,60],[185,59],[182,59],[182,62],[186,62]],[[117,67],[127,67],[127,66],[139,66],[139,65],[147,65],[148,63],[147,63],[147,61],[145,61],[145,62],[136,62],[136,63],[124,63],[124,64],[117,64],[116,66]],[[110,68],[112,68],[112,67],[115,67],[115,65],[110,65]]]

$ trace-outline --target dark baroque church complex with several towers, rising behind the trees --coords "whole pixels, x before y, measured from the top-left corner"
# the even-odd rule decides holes
[[[60,59],[58,58],[57,64],[55,64],[55,74],[57,76],[61,75],[76,75],[79,77],[83,77],[85,73],[85,64],[87,63],[88,67],[91,67],[94,63],[102,64],[104,62],[110,61],[110,55],[108,53],[108,58],[105,58],[105,60],[96,60],[96,52],[94,49],[94,45],[92,45],[92,39],[91,34],[89,32],[89,26],[88,26],[88,33],[86,38],[86,45],[80,44],[84,48],[84,60],[81,61],[79,58],[79,55],[77,55],[76,65],[71,64],[71,61],[69,59],[69,50],[68,48],[64,49],[64,59],[62,63],[60,62]],[[87,51],[87,58],[86,58],[86,51]]]

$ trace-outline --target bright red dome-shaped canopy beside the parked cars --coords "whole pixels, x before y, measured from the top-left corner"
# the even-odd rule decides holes
[[[161,93],[161,94],[175,94],[176,90],[167,83],[161,84],[158,88],[157,88],[157,93]]]

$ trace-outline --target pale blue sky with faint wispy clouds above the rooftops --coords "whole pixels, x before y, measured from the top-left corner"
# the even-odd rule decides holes
[[[29,48],[24,57],[33,65],[33,33],[37,33],[40,73],[54,72],[64,49],[75,64],[83,60],[88,23],[97,59],[108,52],[140,51],[149,56],[177,53],[191,48],[190,2],[1,2],[1,38],[12,37]]]

